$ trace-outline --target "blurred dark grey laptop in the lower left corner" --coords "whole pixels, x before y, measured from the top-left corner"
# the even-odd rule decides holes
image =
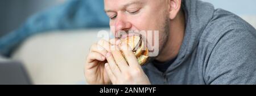
[[[31,85],[32,82],[22,63],[0,62],[0,85]]]

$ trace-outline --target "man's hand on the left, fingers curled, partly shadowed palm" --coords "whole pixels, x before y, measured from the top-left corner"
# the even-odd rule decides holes
[[[110,46],[117,44],[115,41],[115,39],[109,42],[100,40],[90,47],[84,69],[87,84],[111,84],[105,69],[107,63],[105,55],[110,52]]]

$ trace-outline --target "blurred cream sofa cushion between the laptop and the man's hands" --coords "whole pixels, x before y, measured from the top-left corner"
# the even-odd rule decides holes
[[[28,38],[13,55],[34,84],[85,84],[84,63],[102,29],[46,32]]]

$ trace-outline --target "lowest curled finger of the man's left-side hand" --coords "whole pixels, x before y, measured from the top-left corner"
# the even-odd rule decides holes
[[[88,54],[87,61],[89,63],[91,63],[94,60],[99,60],[99,61],[103,62],[105,60],[105,56],[101,55],[100,53],[96,53],[96,52],[92,52],[92,53]]]

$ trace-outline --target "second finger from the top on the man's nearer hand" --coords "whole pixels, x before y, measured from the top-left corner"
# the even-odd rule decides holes
[[[125,72],[128,70],[129,66],[126,63],[125,58],[123,58],[123,55],[121,51],[119,50],[118,46],[113,46],[116,50],[112,50],[112,55],[114,57],[115,63],[120,68],[121,72]]]

